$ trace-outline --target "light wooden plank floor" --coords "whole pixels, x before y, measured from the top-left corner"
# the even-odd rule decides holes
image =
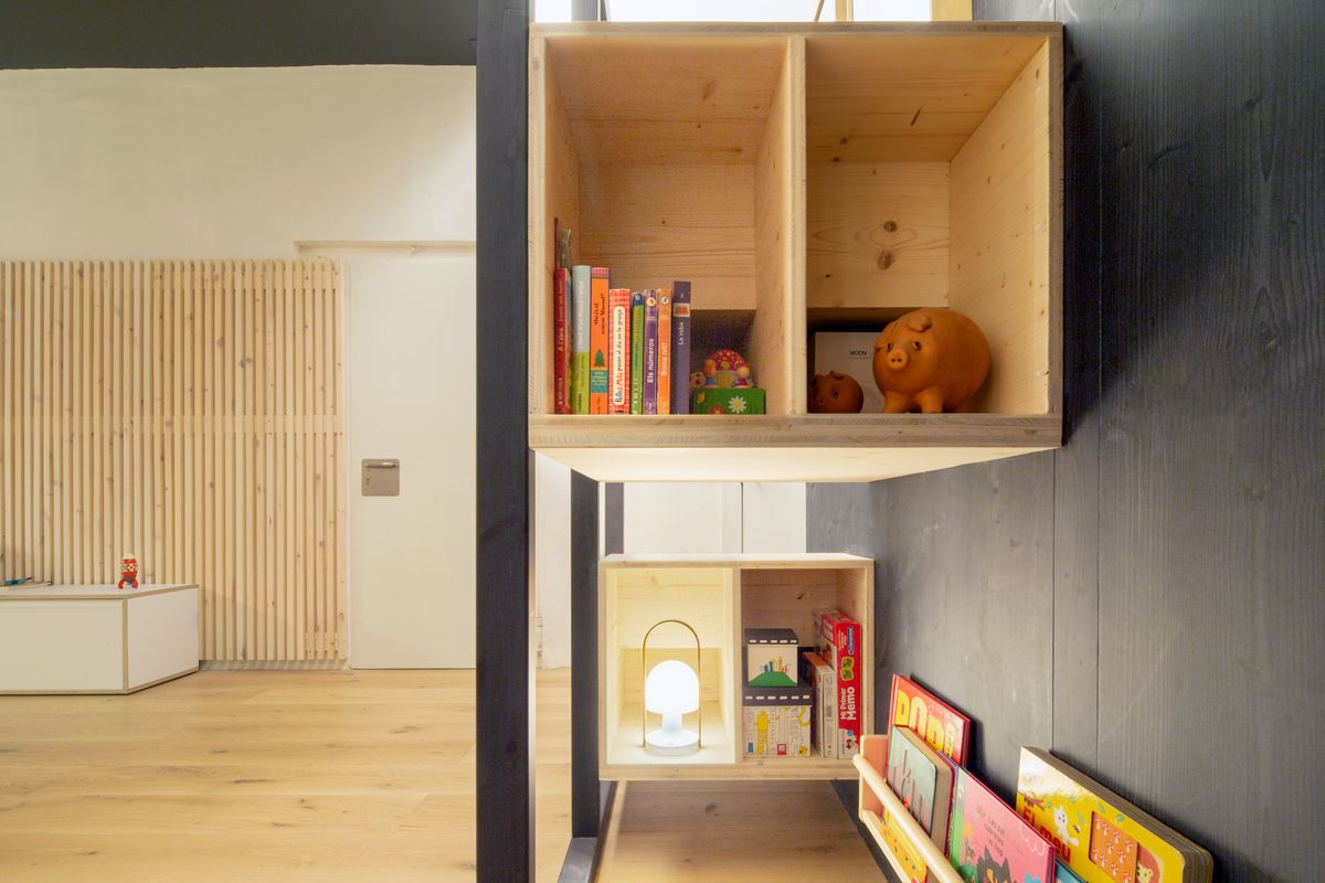
[[[474,879],[468,671],[204,671],[0,696],[4,883]],[[541,883],[570,831],[570,679],[539,673]],[[632,784],[606,883],[882,879],[824,784]]]

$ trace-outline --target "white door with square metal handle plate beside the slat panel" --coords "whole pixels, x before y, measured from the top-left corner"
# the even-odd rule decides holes
[[[346,278],[350,665],[473,667],[474,259]],[[399,461],[399,496],[363,495],[364,459]]]

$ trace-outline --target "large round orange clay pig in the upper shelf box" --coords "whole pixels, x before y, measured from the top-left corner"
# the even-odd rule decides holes
[[[874,383],[885,414],[959,410],[988,371],[984,332],[953,310],[908,312],[874,342]]]

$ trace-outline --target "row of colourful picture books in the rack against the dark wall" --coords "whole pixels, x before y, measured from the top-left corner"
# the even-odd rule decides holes
[[[886,781],[962,879],[979,883],[1194,883],[1210,853],[1040,748],[1022,748],[1016,806],[967,772],[971,721],[924,687],[893,678]],[[865,760],[881,767],[881,743]],[[865,788],[863,785],[863,788]],[[921,854],[889,813],[882,835],[912,880]]]

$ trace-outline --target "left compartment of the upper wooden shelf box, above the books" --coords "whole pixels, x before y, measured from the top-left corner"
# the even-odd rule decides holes
[[[746,347],[768,413],[803,409],[787,357],[803,336],[788,248],[803,44],[611,33],[530,40],[531,413],[554,410],[554,218],[575,261],[611,267],[615,287],[688,279],[697,340],[705,324],[737,328],[727,346]]]

